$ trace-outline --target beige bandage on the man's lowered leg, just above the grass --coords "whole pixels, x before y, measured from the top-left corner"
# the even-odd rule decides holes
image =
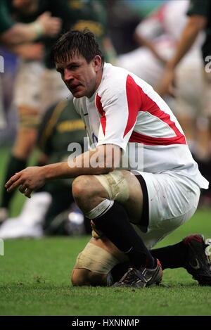
[[[79,253],[74,268],[85,268],[91,272],[108,274],[110,269],[119,262],[111,253],[89,242]]]

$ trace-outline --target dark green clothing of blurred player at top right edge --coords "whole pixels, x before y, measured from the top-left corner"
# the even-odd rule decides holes
[[[191,0],[187,15],[201,15],[207,19],[205,27],[205,42],[202,46],[203,59],[211,54],[211,1],[210,0]]]

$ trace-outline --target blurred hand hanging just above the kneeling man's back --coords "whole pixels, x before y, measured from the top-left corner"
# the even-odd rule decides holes
[[[162,80],[157,87],[155,87],[155,91],[160,96],[170,95],[175,97],[175,74],[174,70],[167,68],[164,72]]]

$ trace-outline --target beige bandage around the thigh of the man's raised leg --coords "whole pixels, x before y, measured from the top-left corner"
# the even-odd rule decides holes
[[[102,186],[108,191],[109,199],[124,203],[129,198],[127,180],[121,171],[115,170],[108,174],[94,175]]]

